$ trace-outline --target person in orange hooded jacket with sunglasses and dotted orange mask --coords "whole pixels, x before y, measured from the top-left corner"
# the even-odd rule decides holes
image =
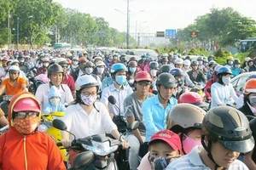
[[[28,92],[9,104],[9,131],[0,136],[0,169],[66,169],[55,141],[38,131],[40,105]]]

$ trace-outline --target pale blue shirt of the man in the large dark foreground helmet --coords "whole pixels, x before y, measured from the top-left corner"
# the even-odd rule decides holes
[[[210,167],[207,167],[202,161],[201,157],[199,156],[199,152],[204,150],[202,146],[195,146],[191,152],[186,155],[178,158],[175,161],[172,161],[166,170],[187,170],[187,169],[196,169],[196,170],[211,170]],[[233,161],[229,168],[226,169],[236,169],[236,170],[248,170],[247,166],[243,164],[241,161],[236,160]]]

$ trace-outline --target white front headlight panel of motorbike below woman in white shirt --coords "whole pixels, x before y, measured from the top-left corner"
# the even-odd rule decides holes
[[[119,148],[118,145],[110,146],[109,141],[100,143],[96,141],[91,141],[92,146],[87,144],[82,144],[85,150],[90,150],[98,156],[108,156],[108,154],[113,153]]]

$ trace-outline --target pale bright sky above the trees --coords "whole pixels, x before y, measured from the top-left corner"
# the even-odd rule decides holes
[[[91,16],[103,17],[108,21],[109,26],[119,31],[126,31],[127,0],[54,1],[61,3],[63,8],[76,8]],[[131,33],[136,31],[155,33],[166,29],[184,28],[193,24],[197,16],[210,13],[212,7],[231,7],[242,15],[256,20],[254,0],[130,0],[129,7]],[[142,10],[143,12],[140,12]]]

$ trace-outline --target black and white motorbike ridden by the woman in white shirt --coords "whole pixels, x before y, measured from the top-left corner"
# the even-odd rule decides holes
[[[66,124],[61,122],[61,120],[55,119],[53,126],[70,133],[67,131]],[[128,129],[135,130],[138,126],[139,122],[132,122],[128,125]],[[95,134],[84,139],[76,139],[73,133],[70,134],[74,137],[71,149],[81,151],[79,156],[75,158],[73,167],[70,169],[119,169],[117,161],[114,159],[114,153],[121,150],[122,143],[120,140],[102,134]]]

